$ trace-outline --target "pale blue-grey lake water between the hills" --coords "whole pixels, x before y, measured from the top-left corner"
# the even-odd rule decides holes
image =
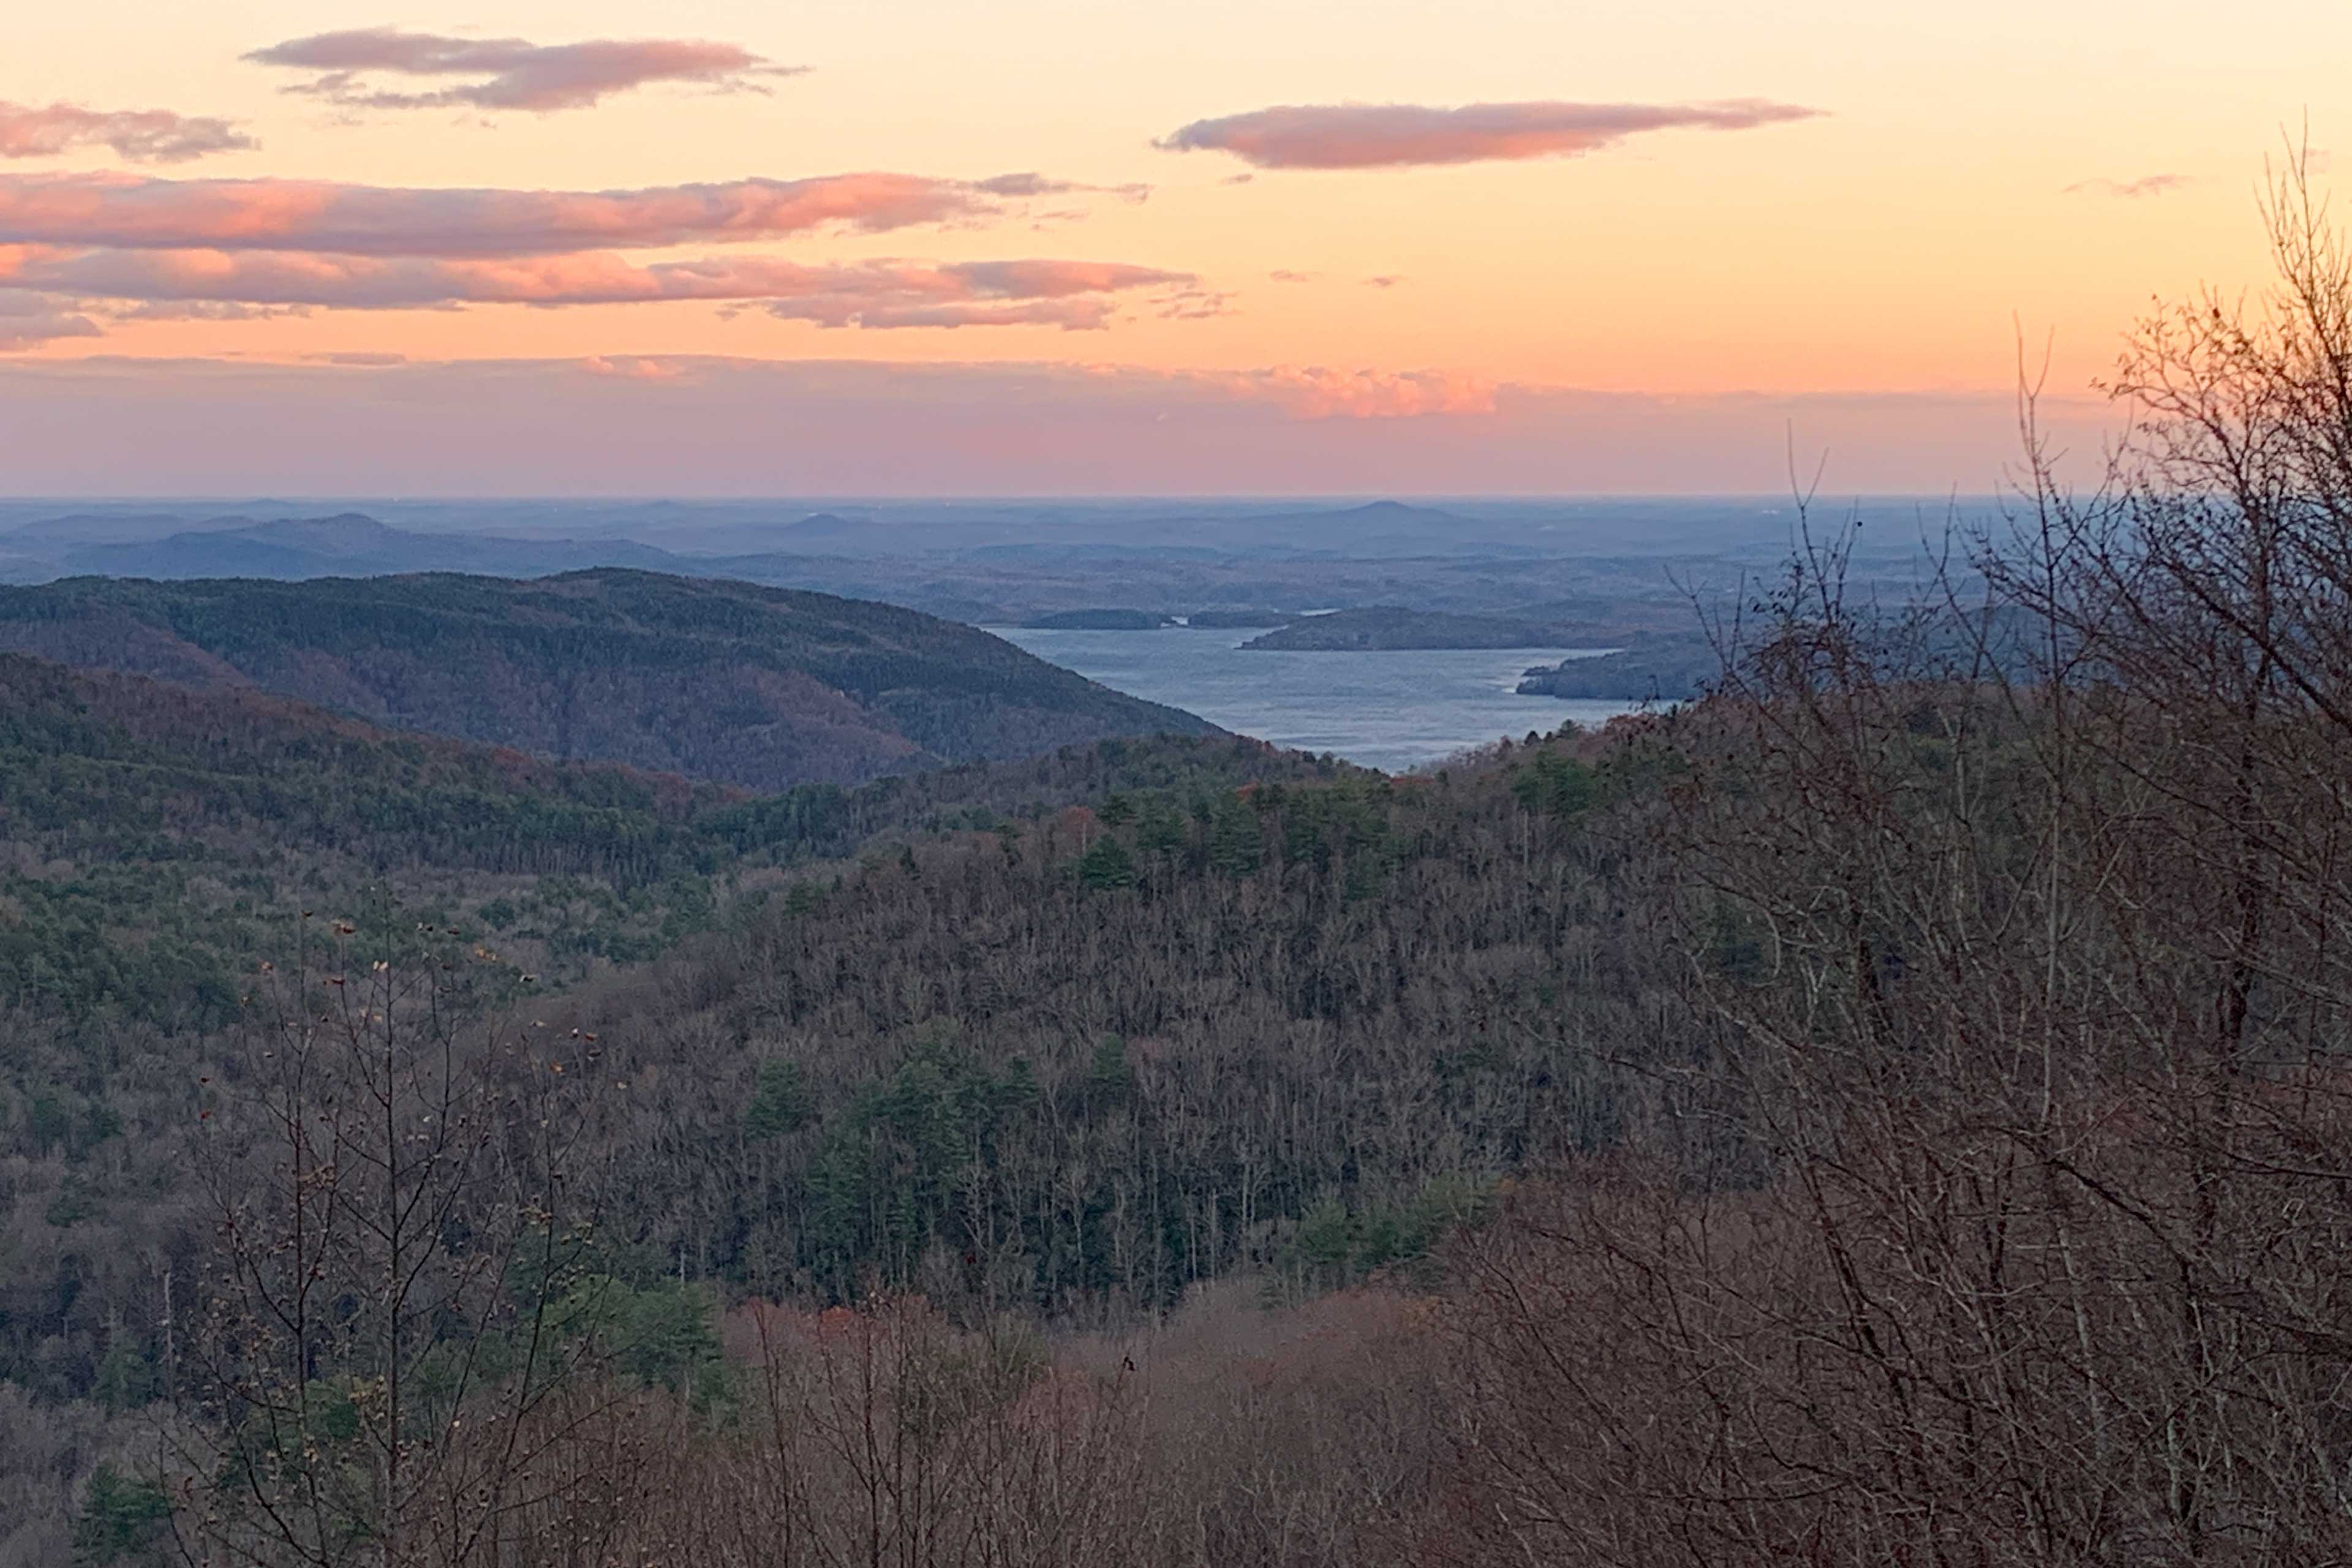
[[[1336,752],[1390,773],[1569,719],[1604,724],[1632,703],[1519,696],[1531,665],[1606,649],[1242,651],[1256,630],[1063,632],[988,628],[1112,691],[1197,712],[1230,731]]]

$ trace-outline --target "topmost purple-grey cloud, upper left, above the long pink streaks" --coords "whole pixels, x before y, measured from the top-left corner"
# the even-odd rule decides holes
[[[800,75],[739,45],[694,38],[593,38],[574,45],[534,45],[524,38],[447,38],[400,28],[355,28],[289,38],[245,54],[256,66],[315,71],[287,92],[346,108],[522,108],[555,113],[588,108],[652,82],[689,82],[727,92],[762,92],[767,80]],[[407,78],[475,78],[428,92],[369,87],[369,73]]]

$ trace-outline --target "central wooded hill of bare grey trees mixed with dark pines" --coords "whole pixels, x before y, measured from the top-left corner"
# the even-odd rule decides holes
[[[550,1018],[642,1074],[626,1234],[760,1295],[1096,1321],[1331,1286],[1613,1135],[1663,969],[1569,743],[913,844]],[[616,1215],[619,1220],[621,1215]]]

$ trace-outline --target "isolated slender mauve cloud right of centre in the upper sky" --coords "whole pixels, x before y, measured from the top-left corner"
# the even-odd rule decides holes
[[[1665,129],[1745,132],[1818,108],[1729,103],[1287,103],[1195,120],[1157,141],[1171,153],[1232,153],[1258,169],[1397,169],[1494,158],[1592,153]]]

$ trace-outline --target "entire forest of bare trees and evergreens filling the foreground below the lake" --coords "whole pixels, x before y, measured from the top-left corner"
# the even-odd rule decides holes
[[[2352,1561],[2352,261],[2272,242],[1907,604],[1806,510],[1700,701],[1414,776],[0,665],[0,1561]]]

